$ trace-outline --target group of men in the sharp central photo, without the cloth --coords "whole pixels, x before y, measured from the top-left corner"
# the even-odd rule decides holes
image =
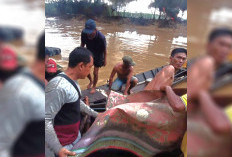
[[[85,45],[86,48],[83,48]],[[159,73],[144,90],[160,90],[165,85],[171,86],[175,73],[182,68],[186,59],[186,49],[174,49],[170,55],[170,64],[160,67]],[[105,65],[106,40],[104,35],[96,29],[95,21],[91,19],[86,22],[82,31],[81,46],[75,48],[69,55],[66,71],[58,72],[55,61],[47,60],[46,73],[50,78],[47,77],[48,83],[45,88],[45,142],[48,156],[74,155],[70,150],[81,140],[80,113],[87,113],[95,118],[99,114],[81,100],[81,90],[77,80],[88,77],[90,83],[87,88],[92,87],[90,93],[95,93],[99,68]],[[93,81],[90,76],[92,66],[94,66]],[[112,69],[109,89],[118,92],[125,84],[123,94],[130,95],[130,89],[138,83],[138,79],[133,76],[133,66],[135,66],[133,59],[130,56],[124,56],[122,62],[116,64]],[[117,74],[117,78],[114,80],[115,74]],[[136,98],[136,96],[133,97]],[[183,106],[185,105],[183,104]],[[174,109],[181,108],[179,112],[185,110],[186,107],[183,106],[179,107],[173,103]]]

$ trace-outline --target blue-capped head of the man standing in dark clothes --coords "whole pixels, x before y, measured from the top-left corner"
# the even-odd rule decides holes
[[[83,30],[83,32],[87,34],[88,39],[90,40],[94,39],[97,33],[95,21],[92,19],[86,21],[85,29]]]

